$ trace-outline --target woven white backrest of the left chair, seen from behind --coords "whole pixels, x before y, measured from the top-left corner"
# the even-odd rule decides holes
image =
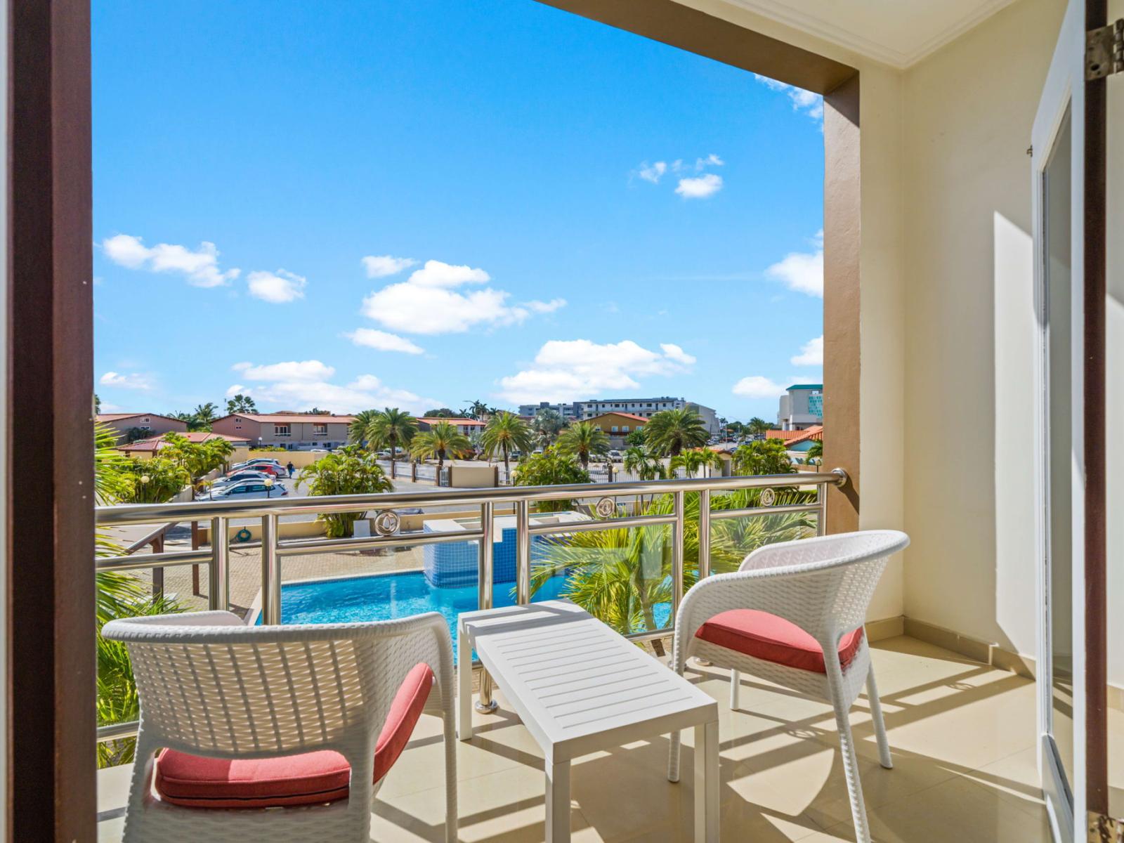
[[[410,668],[426,661],[441,677],[452,662],[436,613],[244,626],[236,615],[208,611],[114,620],[102,635],[128,647],[147,736],[219,758],[310,747],[351,754],[378,734]]]

